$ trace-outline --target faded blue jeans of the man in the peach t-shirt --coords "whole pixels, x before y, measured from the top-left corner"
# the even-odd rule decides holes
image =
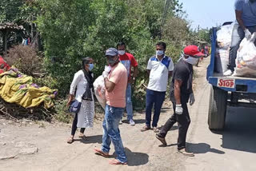
[[[115,153],[117,153],[118,155],[117,159],[122,163],[127,162],[126,152],[122,145],[122,139],[120,137],[120,131],[118,129],[119,121],[122,117],[123,110],[123,108],[106,105],[105,117],[102,123],[102,151],[104,153],[109,153],[110,144],[112,141]]]

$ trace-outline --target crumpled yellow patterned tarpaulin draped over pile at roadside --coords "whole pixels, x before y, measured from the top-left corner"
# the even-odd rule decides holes
[[[49,109],[54,105],[56,94],[57,89],[38,87],[33,83],[33,78],[25,74],[13,70],[0,74],[0,97],[9,103],[31,108],[43,102],[44,107]]]

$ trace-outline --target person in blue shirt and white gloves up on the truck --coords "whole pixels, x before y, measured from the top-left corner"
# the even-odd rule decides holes
[[[230,61],[224,76],[230,76],[234,73],[235,59],[242,39],[250,39],[256,31],[256,0],[236,0],[234,10],[236,22],[232,32]]]

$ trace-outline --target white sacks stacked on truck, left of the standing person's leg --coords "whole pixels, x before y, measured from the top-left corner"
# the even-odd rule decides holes
[[[234,24],[222,26],[217,31],[217,45],[215,52],[215,71],[223,74],[229,64],[231,37]]]

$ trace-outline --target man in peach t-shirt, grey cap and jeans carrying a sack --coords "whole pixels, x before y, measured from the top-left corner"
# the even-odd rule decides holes
[[[118,125],[126,107],[127,70],[119,62],[118,50],[114,48],[106,50],[106,59],[109,66],[106,66],[102,73],[106,87],[105,118],[102,123],[102,149],[94,150],[95,153],[103,157],[110,157],[110,144],[112,142],[118,157],[110,161],[110,165],[126,165],[127,157]]]

